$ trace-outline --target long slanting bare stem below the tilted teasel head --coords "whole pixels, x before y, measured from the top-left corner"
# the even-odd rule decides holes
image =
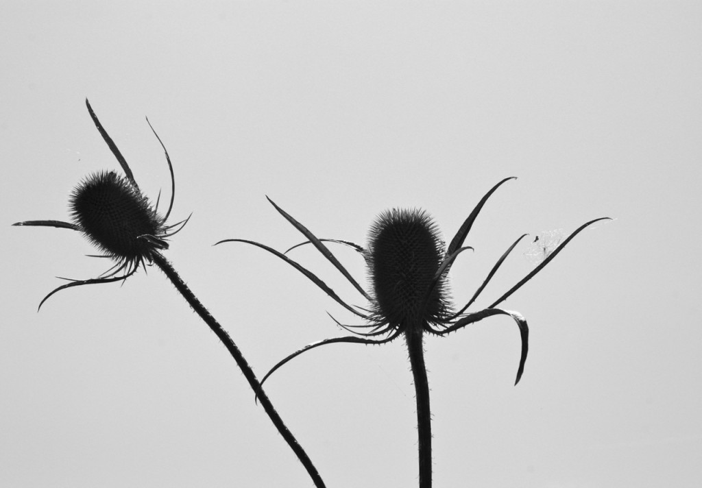
[[[187,284],[185,284],[183,279],[180,278],[178,272],[176,272],[176,270],[173,268],[173,265],[171,265],[171,263],[160,253],[154,253],[152,257],[154,263],[156,263],[156,265],[159,268],[161,268],[161,270],[164,273],[166,273],[166,277],[168,277],[168,279],[170,279],[171,282],[176,286],[176,289],[180,291],[180,294],[183,295],[183,298],[185,298],[187,303],[189,303],[192,309],[195,312],[197,312],[197,315],[199,315],[201,319],[205,321],[205,323],[210,327],[210,329],[212,329],[212,331],[217,335],[220,341],[222,341],[227,350],[230,352],[230,354],[234,358],[234,361],[236,361],[239,365],[239,369],[241,369],[241,372],[244,373],[246,381],[249,381],[251,389],[253,389],[253,391],[258,394],[258,400],[263,406],[263,409],[265,410],[266,414],[268,414],[268,416],[270,417],[271,421],[273,422],[273,425],[278,429],[278,432],[280,433],[280,435],[283,436],[290,448],[293,449],[296,456],[298,456],[300,463],[303,463],[303,466],[305,466],[307,473],[310,474],[310,477],[314,482],[314,486],[316,486],[317,488],[325,488],[324,481],[322,481],[322,477],[319,476],[319,473],[317,473],[317,468],[314,468],[314,464],[312,464],[312,461],[307,456],[305,449],[303,449],[303,447],[300,446],[295,436],[293,436],[290,430],[285,426],[283,419],[280,418],[278,412],[273,407],[273,404],[270,402],[267,395],[265,394],[265,391],[263,391],[263,388],[261,388],[260,383],[256,378],[256,374],[253,373],[253,369],[251,369],[249,363],[246,362],[246,360],[244,359],[244,355],[241,354],[241,351],[239,350],[239,348],[237,348],[237,345],[234,344],[232,338],[229,336],[229,334],[227,334],[227,332],[224,329],[222,329],[222,326],[220,326],[217,320],[210,314],[210,312],[204,307],[204,305],[200,303],[200,301],[192,293]]]

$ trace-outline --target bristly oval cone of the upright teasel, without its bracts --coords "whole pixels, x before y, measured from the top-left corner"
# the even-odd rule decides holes
[[[437,322],[447,307],[444,278],[429,290],[443,258],[444,243],[427,213],[381,213],[371,225],[367,254],[376,314],[392,327]]]

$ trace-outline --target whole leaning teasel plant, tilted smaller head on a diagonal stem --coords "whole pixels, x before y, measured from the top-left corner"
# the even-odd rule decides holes
[[[173,265],[161,254],[161,251],[168,249],[168,238],[180,232],[190,218],[188,217],[175,224],[167,223],[168,217],[171,215],[171,209],[173,209],[176,183],[173,176],[171,158],[168,156],[168,151],[166,151],[166,147],[161,142],[161,138],[159,138],[147,119],[154,136],[156,136],[164,149],[168,169],[171,172],[171,202],[168,204],[168,209],[163,216],[157,211],[158,199],[157,204],[152,205],[150,200],[141,192],[126,159],[119,152],[117,145],[114,144],[105,128],[100,124],[88,100],[86,100],[86,105],[95,126],[98,128],[105,143],[110,147],[114,157],[119,161],[125,176],[119,176],[114,171],[102,171],[88,176],[79,183],[69,197],[72,222],[64,222],[62,220],[25,220],[13,225],[60,227],[77,230],[102,251],[102,254],[95,257],[110,258],[114,265],[96,278],[69,279],[68,284],[58,286],[58,288],[46,295],[39,303],[39,308],[50,296],[62,289],[86,284],[124,282],[124,280],[137,272],[140,267],[152,264],[157,265],[230,352],[239,369],[244,373],[249,385],[260,398],[266,414],[300,462],[303,463],[314,485],[318,488],[324,487],[324,482],[317,472],[317,468],[314,467],[305,450],[286,427],[282,418],[274,409],[272,402],[263,393],[258,378],[256,378],[253,369],[246,362],[237,345],[202,305],[183,279],[180,278]]]

